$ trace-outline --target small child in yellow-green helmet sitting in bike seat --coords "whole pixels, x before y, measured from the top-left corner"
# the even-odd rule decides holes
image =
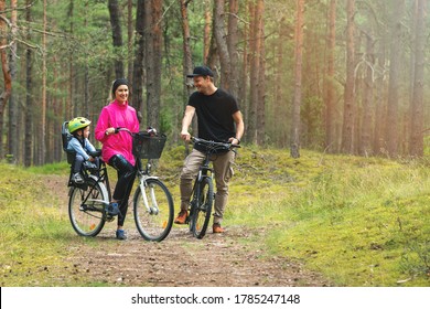
[[[72,175],[72,181],[75,183],[84,183],[80,174],[83,164],[88,169],[98,169],[99,167],[98,158],[89,154],[96,151],[96,148],[88,140],[90,122],[84,117],[76,117],[68,121],[68,131],[73,135],[73,138],[67,145],[67,150],[76,152]]]

